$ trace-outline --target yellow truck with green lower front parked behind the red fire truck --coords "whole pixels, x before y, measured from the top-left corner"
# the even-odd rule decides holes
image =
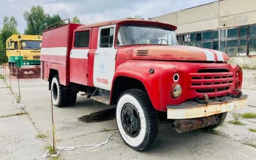
[[[11,75],[40,76],[41,43],[40,35],[12,35],[6,40],[6,56]]]

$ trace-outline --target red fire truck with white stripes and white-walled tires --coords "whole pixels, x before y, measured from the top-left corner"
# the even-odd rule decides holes
[[[177,132],[217,127],[246,106],[242,70],[224,52],[177,45],[175,29],[122,19],[44,31],[41,76],[54,105],[73,105],[77,92],[116,104],[120,135],[134,150],[154,145],[159,118]]]

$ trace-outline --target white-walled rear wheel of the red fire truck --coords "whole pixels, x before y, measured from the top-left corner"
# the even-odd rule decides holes
[[[52,103],[57,107],[63,107],[66,104],[67,92],[64,86],[60,84],[59,76],[54,76],[51,81]]]

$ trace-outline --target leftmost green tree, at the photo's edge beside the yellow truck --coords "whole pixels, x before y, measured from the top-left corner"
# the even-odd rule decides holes
[[[0,63],[6,62],[6,40],[13,34],[19,34],[17,26],[18,22],[15,17],[11,16],[9,18],[6,15],[4,16],[3,28],[0,29]]]

